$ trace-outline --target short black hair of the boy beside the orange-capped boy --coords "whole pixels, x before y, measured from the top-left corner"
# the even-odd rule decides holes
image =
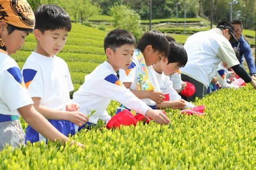
[[[71,20],[69,15],[58,5],[45,4],[39,6],[35,11],[35,19],[35,29],[38,29],[43,33],[47,30],[71,30]]]

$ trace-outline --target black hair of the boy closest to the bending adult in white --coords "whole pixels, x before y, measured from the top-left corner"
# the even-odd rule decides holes
[[[170,41],[170,52],[167,56],[168,64],[178,62],[180,67],[183,67],[188,62],[188,55],[182,44],[175,41]]]

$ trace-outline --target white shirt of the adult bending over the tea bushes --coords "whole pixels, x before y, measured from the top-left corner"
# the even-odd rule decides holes
[[[228,67],[239,64],[233,47],[218,28],[191,35],[184,47],[188,62],[180,68],[182,74],[203,83],[206,88],[221,61],[226,62]]]

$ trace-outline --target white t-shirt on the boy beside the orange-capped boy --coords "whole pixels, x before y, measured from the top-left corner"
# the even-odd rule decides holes
[[[27,58],[22,75],[31,97],[40,97],[40,105],[65,110],[74,89],[67,63],[60,57],[47,57],[35,52]]]

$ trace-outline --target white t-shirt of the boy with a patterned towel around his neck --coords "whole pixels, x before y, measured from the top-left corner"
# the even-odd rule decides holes
[[[135,54],[135,53],[134,53]],[[132,64],[129,66],[128,69],[131,69],[129,74],[126,75],[125,70],[119,69],[119,78],[120,81],[123,82],[131,82],[130,89],[136,90],[137,82],[138,80],[138,67],[135,64],[136,62],[133,60]],[[155,91],[160,91],[159,84],[156,80],[156,76],[154,74],[153,66],[147,66],[148,69],[148,79],[151,85],[155,88]],[[144,101],[148,106],[154,106],[156,105],[154,100],[151,100],[149,98],[141,99]]]

